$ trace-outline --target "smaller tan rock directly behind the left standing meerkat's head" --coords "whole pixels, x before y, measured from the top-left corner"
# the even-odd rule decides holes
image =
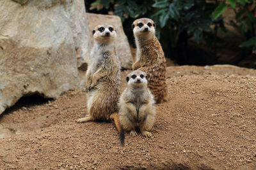
[[[125,36],[122,21],[120,17],[115,15],[101,15],[94,13],[86,13],[87,24],[88,24],[88,35],[90,36],[90,43],[93,45],[92,31],[93,28],[102,23],[108,23],[116,29],[116,55],[118,56],[121,67],[123,69],[132,68],[132,54],[129,47],[129,42]]]

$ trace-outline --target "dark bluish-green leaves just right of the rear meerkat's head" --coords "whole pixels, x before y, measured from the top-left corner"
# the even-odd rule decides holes
[[[194,36],[197,43],[200,43],[205,32],[213,34],[210,27],[216,21],[211,17],[215,4],[207,3],[200,0],[158,0],[154,1],[153,7],[156,7],[156,12],[150,17],[159,23],[160,27],[167,29],[170,38],[171,46],[177,46],[180,40],[188,41],[191,36]],[[168,32],[165,31],[165,32]],[[186,32],[185,37],[180,39],[182,32]],[[166,36],[165,36],[166,37]]]

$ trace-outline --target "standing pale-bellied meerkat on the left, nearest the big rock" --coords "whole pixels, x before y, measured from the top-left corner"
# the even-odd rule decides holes
[[[115,53],[116,31],[113,25],[100,24],[93,29],[93,48],[86,71],[88,115],[77,122],[114,119],[118,125],[118,97],[120,96],[120,64]]]

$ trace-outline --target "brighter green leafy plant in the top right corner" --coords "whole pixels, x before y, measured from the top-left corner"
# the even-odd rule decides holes
[[[232,25],[239,32],[246,36],[247,41],[242,43],[240,47],[248,47],[256,53],[256,1],[254,0],[227,0],[220,3],[213,12],[213,17],[218,18],[231,6],[236,13],[236,20],[232,21]]]

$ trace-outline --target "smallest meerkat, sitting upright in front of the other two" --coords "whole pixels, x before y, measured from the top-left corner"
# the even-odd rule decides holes
[[[149,132],[155,122],[156,109],[154,96],[147,87],[147,74],[136,70],[127,75],[127,87],[118,102],[120,124],[131,136],[137,136],[136,128],[141,134],[151,137]],[[124,141],[121,139],[121,145]]]

